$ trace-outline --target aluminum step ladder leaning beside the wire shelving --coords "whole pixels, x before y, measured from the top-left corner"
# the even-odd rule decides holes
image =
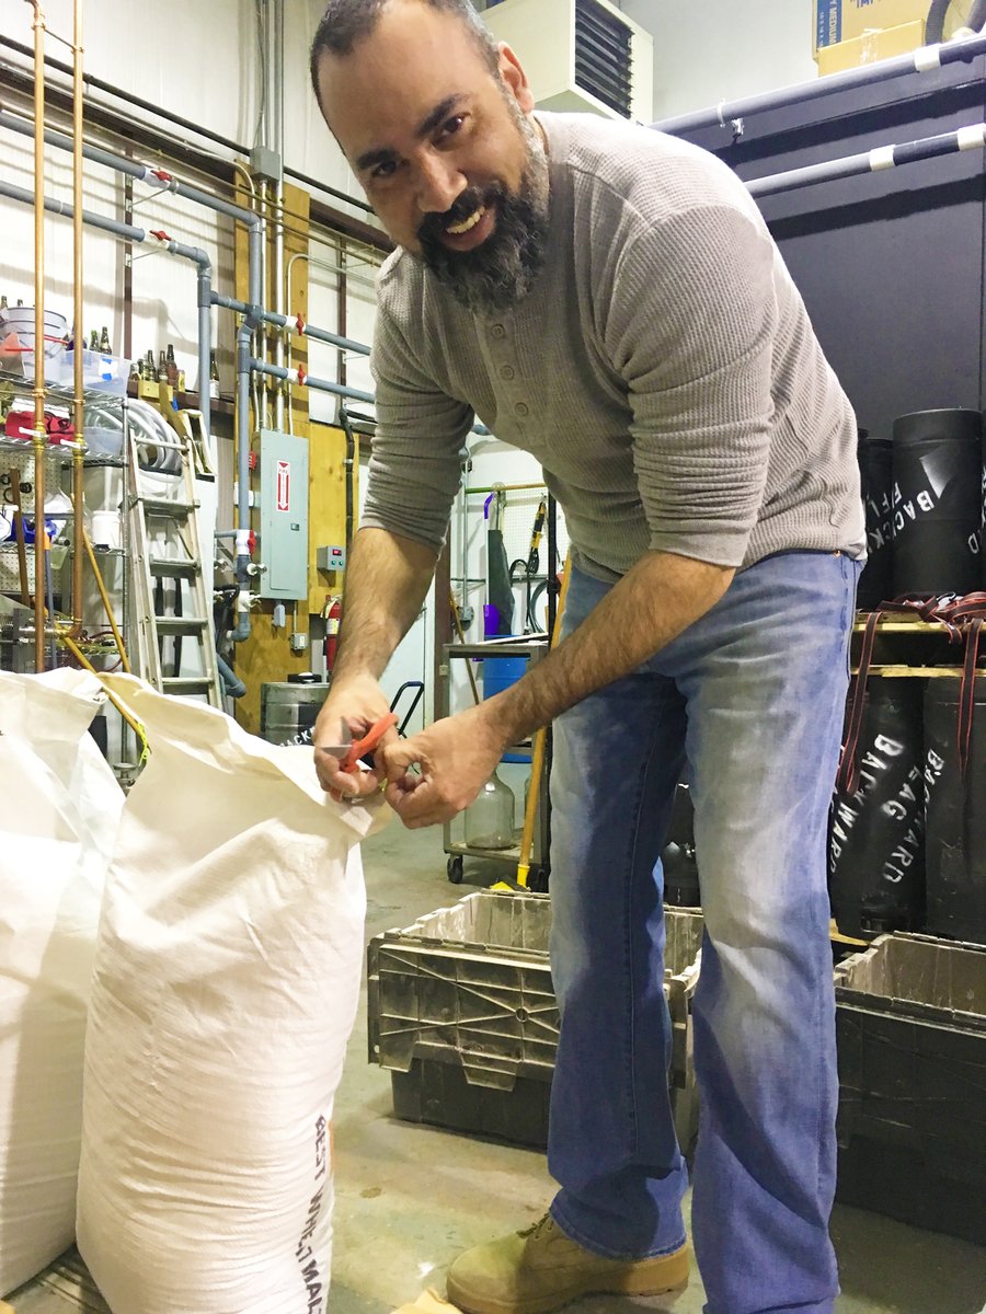
[[[164,473],[141,468],[141,445],[131,428],[128,522],[134,555],[137,674],[162,694],[222,708],[212,603],[202,578],[192,447],[177,432],[174,442],[155,438],[154,448],[176,453],[172,466],[180,466]]]

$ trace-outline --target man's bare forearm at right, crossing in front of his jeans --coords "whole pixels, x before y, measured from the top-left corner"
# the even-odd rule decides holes
[[[575,633],[490,703],[505,742],[519,742],[628,675],[715,606],[734,574],[706,561],[648,552]]]

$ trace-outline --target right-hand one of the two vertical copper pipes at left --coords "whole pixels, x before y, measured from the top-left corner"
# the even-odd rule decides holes
[[[72,330],[72,355],[75,365],[75,396],[72,420],[75,443],[72,444],[72,639],[78,639],[83,628],[83,460],[85,456],[85,402],[83,399],[83,43],[82,43],[83,0],[74,0],[72,34],[72,293],[75,328]],[[43,134],[35,127],[34,137]]]

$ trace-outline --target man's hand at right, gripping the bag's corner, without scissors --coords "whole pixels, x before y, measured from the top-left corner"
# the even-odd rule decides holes
[[[387,802],[408,829],[450,821],[490,778],[507,744],[489,707],[469,707],[384,748],[377,761],[387,773]]]

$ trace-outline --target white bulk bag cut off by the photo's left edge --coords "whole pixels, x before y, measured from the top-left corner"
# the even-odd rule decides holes
[[[83,1039],[124,795],[95,675],[0,673],[0,1296],[72,1243]]]

